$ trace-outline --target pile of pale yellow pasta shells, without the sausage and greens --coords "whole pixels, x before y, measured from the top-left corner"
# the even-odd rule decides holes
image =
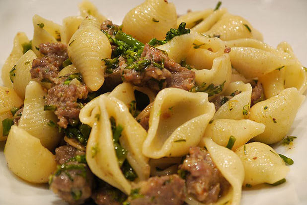
[[[79,9],[81,15],[64,18],[62,25],[34,15],[31,49],[23,53],[23,45],[30,41],[25,33],[17,33],[1,70],[5,87],[0,87],[0,120],[12,118],[12,107],[23,104],[23,112],[18,126],[12,125],[9,133],[2,133],[0,123],[0,140],[6,140],[8,168],[28,182],[48,181],[56,169],[53,151],[64,137],[57,127],[47,125],[58,119],[53,111],[44,110],[46,88],[33,81],[29,72],[33,59],[41,57],[38,45],[59,41],[68,45],[73,64],[59,75],[79,72],[92,92],[104,83],[105,65],[101,59],[110,58],[112,50],[100,24],[107,18],[86,0]],[[197,85],[223,85],[221,92],[210,96],[165,88],[156,93],[129,83],[118,85],[80,111],[79,120],[92,128],[86,161],[98,178],[130,194],[132,182],[124,177],[113,147],[112,116],[123,127],[120,144],[128,150],[127,160],[138,175],[135,182],[176,173],[181,157],[189,153],[190,147],[206,147],[231,185],[229,193],[216,204],[239,205],[242,186],[274,184],[286,178],[289,167],[269,145],[287,136],[305,99],[302,94],[307,88],[307,69],[288,43],[282,42],[277,48],[269,46],[246,19],[225,8],[177,17],[173,3],[145,0],[126,14],[122,30],[147,43],[154,37],[163,40],[165,33],[181,22],[186,22],[191,32],[175,36],[157,48],[177,63],[184,60],[193,66]],[[225,53],[226,48],[230,48],[229,53]],[[9,75],[12,69],[13,83]],[[250,106],[250,83],[255,80],[263,85],[265,100]],[[147,95],[150,104],[135,118],[129,103],[136,101],[136,90]],[[218,95],[230,96],[236,91],[239,94],[218,110],[210,103]],[[149,112],[146,131],[138,119]],[[165,170],[156,171],[156,167]],[[201,205],[190,196],[186,203]]]

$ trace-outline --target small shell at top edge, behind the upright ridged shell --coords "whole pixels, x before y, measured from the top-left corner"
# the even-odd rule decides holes
[[[99,13],[97,7],[89,0],[83,0],[79,4],[79,10],[80,10],[81,16],[86,17],[89,15],[92,15],[98,20],[100,24],[107,19],[104,15],[101,15]]]

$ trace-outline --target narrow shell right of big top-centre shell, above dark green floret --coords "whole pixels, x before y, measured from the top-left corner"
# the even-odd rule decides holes
[[[207,18],[211,13],[213,13],[213,9],[206,9],[202,11],[191,11],[184,15],[181,15],[177,19],[177,27],[181,22],[186,23],[186,28],[193,28],[198,22],[203,21]]]

